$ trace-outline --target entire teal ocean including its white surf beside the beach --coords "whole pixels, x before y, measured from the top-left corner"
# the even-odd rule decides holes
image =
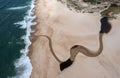
[[[29,78],[34,0],[0,0],[0,78]]]

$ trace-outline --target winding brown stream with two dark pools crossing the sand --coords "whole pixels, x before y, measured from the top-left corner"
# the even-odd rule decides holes
[[[55,59],[60,63],[60,70],[64,70],[65,68],[69,67],[72,65],[72,63],[75,61],[75,57],[78,53],[82,53],[88,57],[96,57],[101,54],[103,50],[103,42],[102,42],[102,37],[104,33],[108,33],[111,30],[111,24],[108,21],[108,17],[103,17],[100,20],[101,22],[101,30],[99,32],[99,49],[97,51],[91,51],[90,49],[82,46],[82,45],[73,45],[70,48],[70,58],[66,60],[65,62],[62,62],[55,54],[53,47],[52,47],[52,40],[49,36],[47,35],[39,35],[42,37],[46,37],[49,40],[49,47],[51,50],[51,53],[55,57]]]

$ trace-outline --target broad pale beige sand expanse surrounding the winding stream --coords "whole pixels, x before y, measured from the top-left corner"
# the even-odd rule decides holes
[[[120,78],[120,18],[110,20],[112,30],[103,36],[103,52],[98,57],[79,53],[72,66],[60,71],[59,62],[51,54],[51,37],[55,54],[61,61],[70,57],[70,48],[83,45],[91,50],[99,48],[100,15],[77,13],[56,0],[37,0],[38,25],[32,35],[30,59],[31,78]]]

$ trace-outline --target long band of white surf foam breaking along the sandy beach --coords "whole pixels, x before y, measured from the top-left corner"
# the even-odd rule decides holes
[[[31,26],[36,24],[36,22],[33,22],[33,20],[36,18],[34,16],[34,10],[33,10],[34,7],[35,7],[35,0],[31,0],[30,9],[27,11],[26,13],[27,15],[24,17],[24,20],[15,23],[21,25],[21,28],[26,29],[26,35],[22,37],[22,39],[24,39],[26,46],[24,49],[20,51],[22,53],[21,57],[15,61],[17,75],[12,78],[29,78],[32,72],[32,65],[27,55],[29,52],[28,48],[31,45],[29,39],[30,33],[32,32]]]

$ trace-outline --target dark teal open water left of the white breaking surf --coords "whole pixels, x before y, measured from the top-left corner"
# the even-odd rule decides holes
[[[31,0],[0,0],[0,78],[15,77],[25,70],[18,70],[15,62],[23,55],[21,49],[26,48],[23,36],[27,27],[21,28],[24,23],[19,22],[25,20],[30,3]]]

